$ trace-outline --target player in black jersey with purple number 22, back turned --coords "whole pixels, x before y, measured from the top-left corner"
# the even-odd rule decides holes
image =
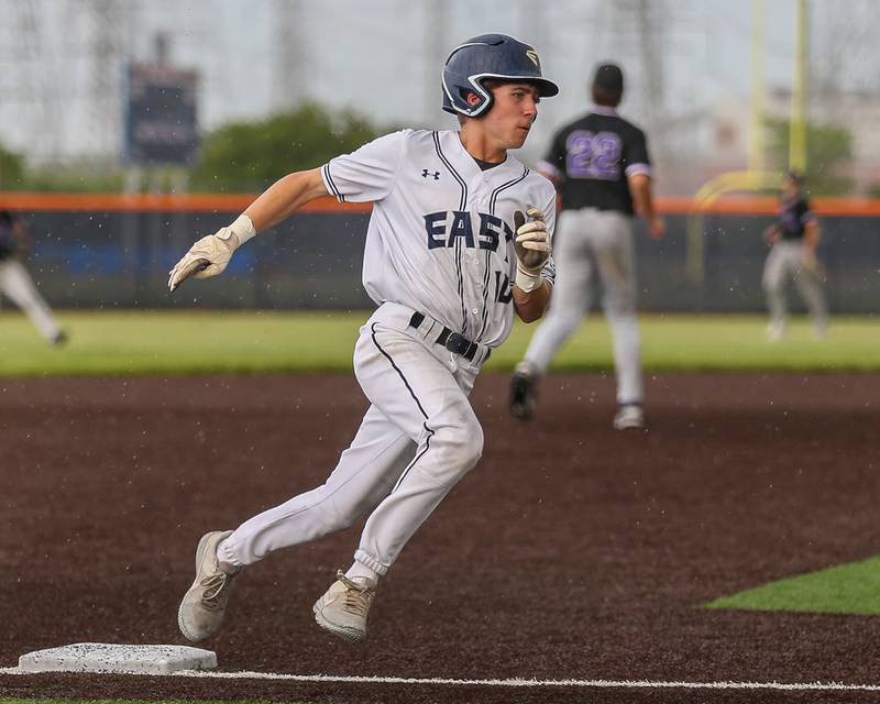
[[[653,208],[645,134],[617,114],[624,95],[620,68],[600,66],[592,94],[593,110],[562,128],[539,164],[541,173],[557,184],[562,200],[556,246],[559,279],[547,320],[515,370],[510,413],[520,420],[532,417],[538,382],[590,309],[591,278],[596,272],[614,337],[618,404],[614,427],[644,428],[634,210],[647,220],[652,238],[663,237],[664,224]]]

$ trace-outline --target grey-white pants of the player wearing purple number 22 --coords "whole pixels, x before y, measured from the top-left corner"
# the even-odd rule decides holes
[[[614,340],[617,402],[641,404],[641,340],[636,319],[632,219],[616,210],[563,210],[553,243],[557,280],[550,310],[535,332],[524,362],[543,374],[590,310],[593,270],[602,282],[602,306]]]

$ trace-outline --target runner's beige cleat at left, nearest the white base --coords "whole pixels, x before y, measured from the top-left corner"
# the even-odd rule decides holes
[[[231,535],[231,530],[212,530],[201,537],[196,548],[196,580],[177,609],[180,632],[193,642],[216,635],[223,624],[229,591],[241,568],[220,562],[217,546]]]

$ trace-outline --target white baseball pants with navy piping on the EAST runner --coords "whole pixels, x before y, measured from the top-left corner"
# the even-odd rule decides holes
[[[372,405],[327,482],[246,520],[220,547],[221,559],[251,564],[372,512],[354,559],[385,574],[476,464],[483,430],[468,396],[485,350],[468,362],[431,341],[442,326],[410,328],[413,312],[386,302],[361,328],[354,372]]]

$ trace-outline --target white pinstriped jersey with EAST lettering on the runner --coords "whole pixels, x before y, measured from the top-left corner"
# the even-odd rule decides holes
[[[556,190],[512,155],[481,170],[452,130],[402,130],[321,168],[340,201],[374,201],[363,284],[377,304],[428,314],[473,342],[510,333],[514,213],[529,206],[556,224]],[[543,276],[553,282],[552,260]]]

